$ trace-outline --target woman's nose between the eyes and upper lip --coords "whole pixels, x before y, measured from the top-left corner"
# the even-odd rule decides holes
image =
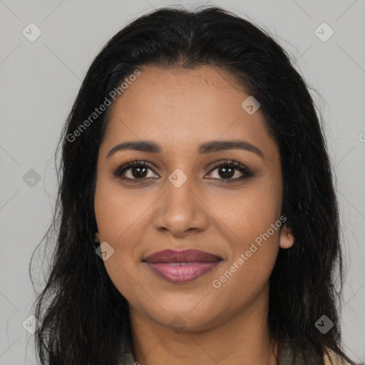
[[[206,230],[210,222],[210,210],[204,202],[203,189],[192,184],[192,178],[187,178],[180,187],[168,180],[165,192],[155,205],[155,229],[168,231],[175,237]]]

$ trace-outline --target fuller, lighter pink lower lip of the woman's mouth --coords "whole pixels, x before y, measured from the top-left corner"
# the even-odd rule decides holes
[[[168,262],[146,262],[148,267],[168,282],[191,282],[214,269],[220,261],[191,262],[190,264],[171,264]]]

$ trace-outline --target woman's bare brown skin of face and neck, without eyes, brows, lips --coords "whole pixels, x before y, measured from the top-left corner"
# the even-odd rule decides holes
[[[281,215],[279,150],[262,113],[250,115],[242,108],[249,94],[219,68],[139,70],[110,106],[95,194],[100,242],[114,250],[104,264],[129,303],[135,360],[142,365],[277,364],[267,329],[268,280],[279,247],[293,242],[286,225],[220,288],[212,286]],[[152,140],[162,152],[120,150],[106,158],[115,145],[131,140]],[[245,140],[263,158],[238,149],[200,155],[199,145],[210,140]],[[153,170],[133,175],[129,168],[123,175],[144,180],[113,176],[133,160],[147,161]],[[237,180],[242,173],[233,170],[235,175],[225,178],[212,166],[225,160],[241,163],[253,177]],[[177,168],[187,177],[180,187],[168,180]],[[210,252],[222,262],[192,282],[174,284],[142,262],[168,248]]]

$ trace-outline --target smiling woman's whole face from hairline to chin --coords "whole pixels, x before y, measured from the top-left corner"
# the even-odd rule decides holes
[[[208,329],[267,302],[289,242],[279,151],[229,73],[139,69],[110,107],[98,154],[104,264],[133,315]],[[110,153],[141,141],[153,146]],[[153,259],[163,250],[173,251]]]

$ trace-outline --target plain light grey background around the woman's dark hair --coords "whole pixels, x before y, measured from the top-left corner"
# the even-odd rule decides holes
[[[81,81],[121,27],[170,4],[215,4],[254,21],[297,60],[296,68],[322,96],[311,91],[327,123],[337,177],[348,272],[344,349],[365,362],[364,0],[0,0],[0,364],[36,364],[34,335],[22,327],[34,301],[28,266],[51,222],[57,190],[53,155]],[[31,22],[42,32],[34,42],[22,34]],[[327,41],[314,33],[323,22],[334,30]],[[329,34],[329,29],[319,31]],[[29,180],[31,169],[40,181]]]

